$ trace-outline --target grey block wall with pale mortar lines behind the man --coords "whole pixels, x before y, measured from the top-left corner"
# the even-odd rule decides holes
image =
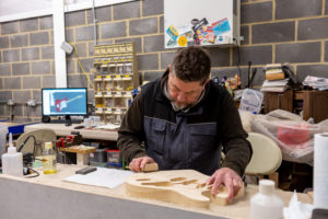
[[[239,69],[247,82],[247,65],[258,68],[255,85],[265,76],[261,68],[290,62],[298,80],[313,74],[328,78],[328,0],[242,0],[242,35],[237,48],[209,48],[212,76],[234,76]],[[141,80],[161,76],[175,49],[164,49],[163,0],[133,1],[96,9],[98,44],[136,43]],[[67,41],[77,46],[82,66],[91,73],[93,18],[91,10],[66,14]],[[68,85],[87,87],[77,56],[68,56]],[[0,23],[0,102],[9,99],[40,102],[40,88],[55,87],[52,18]],[[90,89],[89,97],[93,101]],[[0,103],[0,115],[9,115]],[[14,106],[15,118],[38,119],[40,106]]]

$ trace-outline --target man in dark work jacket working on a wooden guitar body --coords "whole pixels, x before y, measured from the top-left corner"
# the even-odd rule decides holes
[[[210,81],[210,57],[201,47],[178,51],[163,77],[136,96],[117,145],[130,170],[140,172],[153,162],[160,170],[192,169],[211,175],[207,184],[213,184],[212,194],[224,184],[231,201],[242,186],[251,148],[232,96]]]

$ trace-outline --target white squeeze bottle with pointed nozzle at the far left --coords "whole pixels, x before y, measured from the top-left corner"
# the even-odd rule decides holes
[[[23,176],[23,154],[12,145],[12,134],[9,135],[8,152],[2,154],[2,173]]]

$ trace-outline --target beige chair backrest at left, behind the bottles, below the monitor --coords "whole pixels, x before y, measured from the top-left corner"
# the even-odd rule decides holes
[[[36,142],[34,141],[33,137],[35,138]],[[34,155],[42,155],[42,151],[45,149],[45,142],[54,142],[56,140],[56,132],[52,129],[39,129],[24,132],[16,141],[17,149],[27,138],[30,139],[26,141],[21,152],[34,152]]]

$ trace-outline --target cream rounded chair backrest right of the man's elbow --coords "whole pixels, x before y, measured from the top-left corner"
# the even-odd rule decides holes
[[[248,132],[247,140],[251,143],[253,157],[245,173],[268,175],[277,171],[282,162],[282,153],[276,141],[258,132]]]

